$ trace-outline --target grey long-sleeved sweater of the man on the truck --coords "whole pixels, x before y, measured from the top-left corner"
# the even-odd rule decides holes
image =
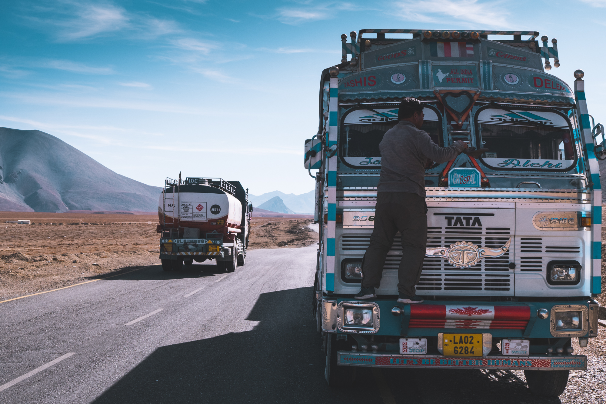
[[[425,162],[428,158],[444,163],[455,158],[464,146],[454,143],[440,147],[425,130],[409,121],[400,121],[385,132],[379,143],[381,180],[378,192],[410,192],[425,198]]]

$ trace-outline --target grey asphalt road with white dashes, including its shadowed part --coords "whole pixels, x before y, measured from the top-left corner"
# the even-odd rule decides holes
[[[328,388],[315,257],[253,250],[231,274],[157,265],[2,303],[0,403],[561,402],[510,371],[359,368]]]

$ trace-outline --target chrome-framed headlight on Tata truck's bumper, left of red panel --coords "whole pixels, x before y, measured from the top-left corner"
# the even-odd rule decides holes
[[[379,331],[379,305],[373,301],[341,301],[337,312],[341,332],[375,334]]]

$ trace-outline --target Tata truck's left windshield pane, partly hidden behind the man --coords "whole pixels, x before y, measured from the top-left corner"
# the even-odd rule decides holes
[[[398,109],[356,109],[345,115],[341,127],[341,157],[349,166],[381,167],[379,143],[385,132],[398,124]],[[425,130],[442,146],[442,124],[435,110],[425,107]]]

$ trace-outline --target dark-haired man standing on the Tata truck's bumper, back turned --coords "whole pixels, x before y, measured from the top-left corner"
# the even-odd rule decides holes
[[[423,104],[416,98],[404,98],[398,110],[399,123],[385,132],[379,143],[381,179],[377,186],[375,229],[362,259],[362,289],[358,300],[376,297],[383,265],[399,231],[402,234],[402,260],[398,268],[398,301],[422,303],[415,285],[427,247],[427,204],[425,203],[425,163],[453,160],[467,148],[458,140],[440,147],[424,130]]]

